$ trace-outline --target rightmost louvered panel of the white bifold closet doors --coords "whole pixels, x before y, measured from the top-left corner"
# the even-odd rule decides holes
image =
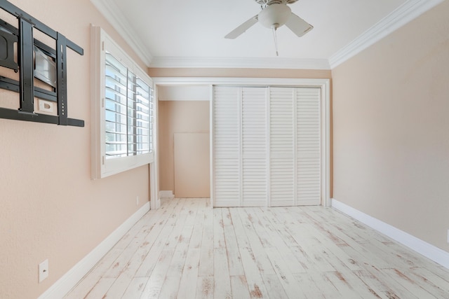
[[[321,203],[319,88],[296,88],[296,205]]]

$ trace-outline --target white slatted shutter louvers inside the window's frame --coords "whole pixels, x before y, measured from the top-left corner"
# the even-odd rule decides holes
[[[152,88],[105,54],[105,155],[119,158],[151,152]]]

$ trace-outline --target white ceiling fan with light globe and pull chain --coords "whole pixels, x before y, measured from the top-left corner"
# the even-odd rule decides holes
[[[278,55],[276,29],[285,24],[291,31],[293,31],[294,34],[301,37],[314,28],[308,22],[292,13],[290,7],[287,6],[287,4],[293,4],[297,0],[255,1],[257,4],[260,4],[262,11],[236,29],[232,30],[232,32],[229,32],[229,34],[225,36],[225,39],[236,39],[238,36],[243,34],[243,32],[246,32],[246,30],[255,25],[255,23],[260,22],[264,27],[272,29],[274,44],[276,46],[276,55]]]

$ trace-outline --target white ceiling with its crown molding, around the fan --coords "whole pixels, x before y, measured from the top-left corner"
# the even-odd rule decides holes
[[[283,26],[259,23],[237,39],[224,36],[260,6],[254,0],[91,0],[152,67],[288,66],[329,69],[363,45],[427,11],[441,0],[299,0],[292,12],[314,26],[298,38]],[[355,48],[354,48],[355,47]]]

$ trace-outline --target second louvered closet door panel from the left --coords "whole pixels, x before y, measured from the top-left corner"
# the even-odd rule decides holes
[[[241,89],[242,205],[267,205],[267,88]]]

